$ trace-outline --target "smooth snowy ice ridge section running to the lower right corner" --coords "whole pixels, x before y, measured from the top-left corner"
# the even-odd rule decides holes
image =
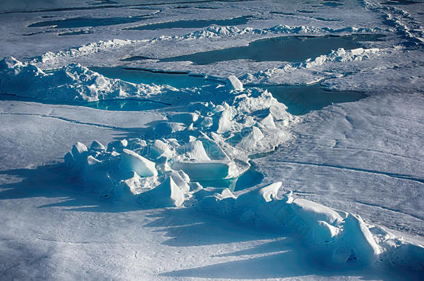
[[[291,191],[278,198],[280,188],[282,182],[275,182],[240,194],[231,211],[225,205],[226,214],[245,223],[291,230],[330,264],[389,262],[418,271],[423,269],[423,246],[411,244],[382,228],[377,232],[375,226],[367,225],[355,214],[344,217],[324,205],[293,198]],[[215,201],[210,200],[207,206],[222,210],[222,196],[214,197]],[[201,209],[204,208],[202,204]]]

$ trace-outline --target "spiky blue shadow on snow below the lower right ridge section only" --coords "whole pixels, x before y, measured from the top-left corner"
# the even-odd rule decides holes
[[[172,247],[208,246],[254,241],[254,246],[240,246],[234,252],[212,255],[226,259],[206,266],[161,273],[171,278],[266,279],[331,278],[338,280],[420,280],[419,273],[384,264],[365,267],[347,263],[334,265],[329,257],[316,253],[291,234],[273,228],[245,225],[228,217],[200,213],[195,208],[164,210],[151,215],[155,221],[144,227],[159,228]],[[218,226],[218,227],[217,227]],[[227,261],[232,259],[231,261]]]

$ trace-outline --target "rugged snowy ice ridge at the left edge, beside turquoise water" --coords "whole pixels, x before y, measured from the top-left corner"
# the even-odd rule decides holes
[[[147,98],[175,89],[106,78],[79,64],[70,64],[45,73],[35,65],[22,64],[8,57],[0,61],[0,90],[7,94],[48,101],[99,101]]]

